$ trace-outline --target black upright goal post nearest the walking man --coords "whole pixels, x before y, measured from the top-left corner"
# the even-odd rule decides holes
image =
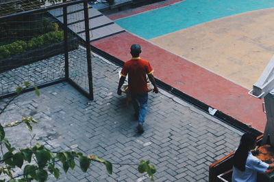
[[[84,0],[84,18],[85,18],[85,31],[86,31],[86,59],[88,61],[88,87],[90,92],[90,100],[93,100],[93,87],[92,87],[92,67],[91,67],[91,54],[90,54],[90,27],[88,19],[88,0]]]

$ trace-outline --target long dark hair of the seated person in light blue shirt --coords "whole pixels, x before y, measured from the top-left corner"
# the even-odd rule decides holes
[[[248,151],[254,146],[256,137],[251,134],[243,134],[240,138],[240,145],[234,154],[233,165],[238,170],[245,171],[245,164],[247,162]]]

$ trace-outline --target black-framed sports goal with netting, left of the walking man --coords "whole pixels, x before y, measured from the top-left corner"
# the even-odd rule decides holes
[[[69,22],[82,23],[70,25],[68,17]],[[15,95],[16,87],[27,81],[38,88],[69,82],[93,100],[88,24],[87,0],[1,16],[0,98]],[[84,32],[86,39],[77,36],[71,26]]]

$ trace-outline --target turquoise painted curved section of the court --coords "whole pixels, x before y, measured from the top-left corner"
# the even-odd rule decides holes
[[[186,0],[115,22],[147,40],[217,18],[274,7],[274,0]]]

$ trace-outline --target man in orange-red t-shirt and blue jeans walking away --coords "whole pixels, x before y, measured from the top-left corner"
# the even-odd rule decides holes
[[[156,86],[153,76],[153,69],[149,64],[149,61],[140,59],[139,55],[142,52],[140,45],[132,44],[130,48],[130,54],[132,59],[127,61],[123,70],[121,71],[121,78],[119,80],[119,86],[117,89],[118,95],[121,95],[121,87],[125,82],[125,77],[128,74],[129,92],[132,97],[132,104],[134,106],[134,116],[138,118],[138,132],[142,134],[144,132],[143,124],[145,122],[145,116],[147,114],[147,76],[153,85],[153,92],[158,93],[158,87]]]

